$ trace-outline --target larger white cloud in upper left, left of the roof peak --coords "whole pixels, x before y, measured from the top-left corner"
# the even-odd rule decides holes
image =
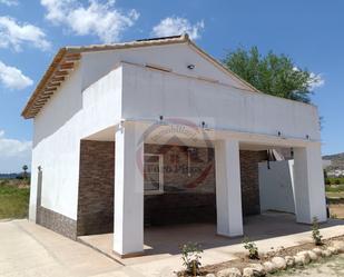
[[[13,18],[0,17],[0,48],[20,51],[23,43],[31,43],[41,50],[50,48],[46,33],[29,23],[18,23]]]

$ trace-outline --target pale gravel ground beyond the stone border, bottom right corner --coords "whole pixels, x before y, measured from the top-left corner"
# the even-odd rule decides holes
[[[292,277],[344,277],[344,254],[323,263],[314,263],[304,269],[293,269],[274,276]]]

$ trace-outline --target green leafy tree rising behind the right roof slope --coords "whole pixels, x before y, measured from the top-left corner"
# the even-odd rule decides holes
[[[262,56],[257,47],[229,51],[223,62],[262,92],[306,103],[314,86],[322,81],[320,76],[296,67],[289,57],[273,51]]]

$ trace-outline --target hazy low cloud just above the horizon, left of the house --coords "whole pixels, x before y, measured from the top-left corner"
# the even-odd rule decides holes
[[[19,172],[30,164],[32,142],[10,139],[0,130],[0,172]]]

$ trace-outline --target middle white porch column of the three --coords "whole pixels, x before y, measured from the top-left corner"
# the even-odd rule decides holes
[[[236,237],[244,234],[238,140],[215,144],[217,234]]]

